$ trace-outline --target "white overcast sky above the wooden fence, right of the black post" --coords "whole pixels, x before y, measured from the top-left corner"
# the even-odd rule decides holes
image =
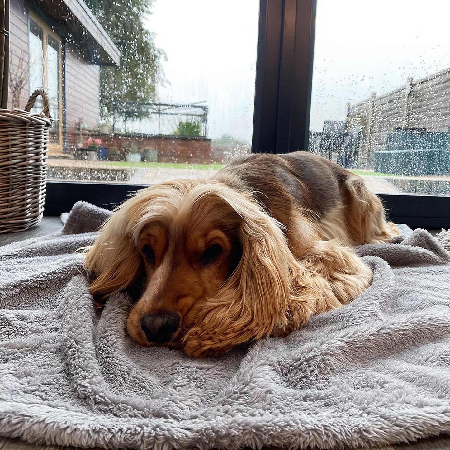
[[[357,103],[450,67],[449,0],[319,0],[311,129]]]

